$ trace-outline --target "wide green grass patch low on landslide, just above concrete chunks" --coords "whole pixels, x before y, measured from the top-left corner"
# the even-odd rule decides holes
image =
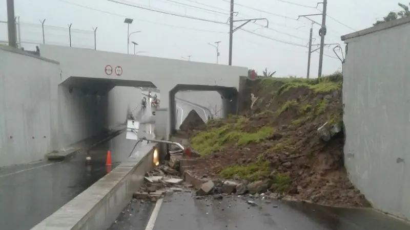
[[[251,163],[248,165],[236,165],[224,168],[219,175],[222,178],[239,177],[250,181],[267,178],[271,173],[270,164],[267,161]]]

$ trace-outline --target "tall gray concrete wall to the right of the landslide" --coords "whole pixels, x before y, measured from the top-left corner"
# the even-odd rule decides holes
[[[374,208],[410,219],[410,24],[347,39],[345,165]]]

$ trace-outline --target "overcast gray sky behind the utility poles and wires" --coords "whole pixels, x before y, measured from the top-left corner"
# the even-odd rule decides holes
[[[124,18],[134,19],[131,41],[139,45],[138,55],[216,62],[216,49],[207,44],[221,41],[219,63],[228,64],[229,0],[15,0],[15,15],[20,16],[22,41],[42,42],[40,19],[46,19],[46,43],[68,45],[68,24],[72,24],[73,47],[94,48],[93,27],[97,29],[97,50],[127,53],[127,25]],[[6,0],[0,0],[0,20],[7,20]],[[309,29],[311,22],[295,20],[301,14],[320,13],[314,0],[235,0],[235,19],[268,18],[250,23],[234,33],[233,65],[255,68],[258,72],[267,67],[277,76],[306,76]],[[186,15],[214,22],[173,16],[152,10]],[[318,9],[321,9],[319,5]],[[391,10],[398,10],[391,0],[330,0],[327,10],[326,43],[341,43],[340,36],[371,27],[376,19]],[[311,17],[321,22],[320,16]],[[219,22],[219,23],[217,23]],[[222,23],[221,23],[222,22]],[[259,24],[259,25],[257,25]],[[240,22],[236,22],[236,26]],[[52,26],[52,27],[51,27]],[[61,27],[61,28],[58,28]],[[75,29],[75,30],[74,30]],[[314,43],[320,41],[319,26],[314,26]],[[81,31],[79,31],[81,30]],[[86,30],[86,31],[84,31]],[[90,32],[87,32],[90,31]],[[7,39],[7,25],[0,24],[0,40]],[[34,45],[35,46],[35,45]],[[26,49],[33,44],[23,43]],[[344,45],[343,45],[344,47]],[[130,53],[133,53],[130,44]],[[332,48],[325,48],[323,73],[340,70],[341,62]],[[319,54],[312,54],[311,77],[318,71]]]

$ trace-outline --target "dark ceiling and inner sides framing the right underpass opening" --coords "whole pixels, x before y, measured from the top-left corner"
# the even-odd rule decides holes
[[[222,100],[222,118],[227,118],[229,114],[237,114],[239,106],[238,90],[235,87],[225,87],[217,85],[186,85],[178,84],[169,91],[169,114],[170,133],[175,133],[177,128],[176,94],[179,91],[217,91]],[[193,102],[192,100],[190,100]],[[200,104],[200,102],[198,103]],[[187,111],[189,112],[189,111]],[[182,121],[181,121],[182,122]]]

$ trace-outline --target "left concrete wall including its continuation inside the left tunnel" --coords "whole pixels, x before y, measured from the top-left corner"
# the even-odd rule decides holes
[[[105,96],[76,87],[70,92],[58,85],[58,62],[22,51],[2,47],[0,60],[0,167],[42,160],[124,123],[128,107],[141,101],[134,87],[115,87]]]

